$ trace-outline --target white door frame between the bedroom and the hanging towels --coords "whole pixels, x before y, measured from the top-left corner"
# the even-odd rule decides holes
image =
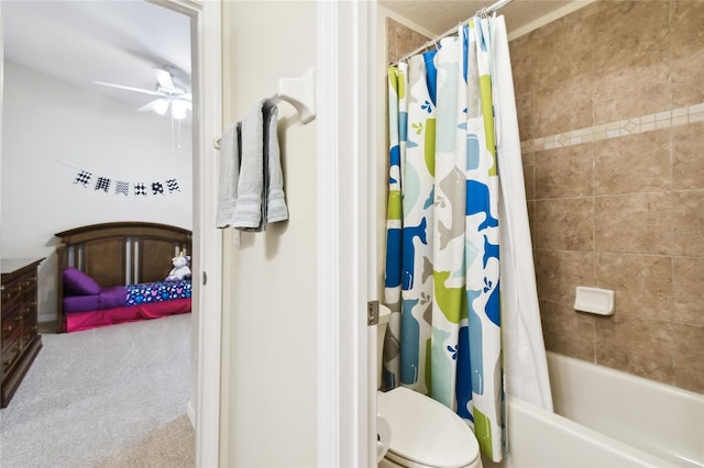
[[[194,289],[191,386],[188,416],[196,430],[196,466],[217,467],[220,450],[220,345],[222,241],[215,227],[218,157],[222,133],[222,35],[220,0],[147,0],[191,19],[194,101]],[[195,381],[194,381],[195,380]]]

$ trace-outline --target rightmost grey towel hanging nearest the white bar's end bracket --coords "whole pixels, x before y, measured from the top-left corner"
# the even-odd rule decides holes
[[[265,159],[268,161],[268,189],[266,192],[266,221],[275,223],[288,220],[288,208],[284,194],[284,172],[282,170],[280,151],[278,147],[278,136],[276,135],[278,107],[273,100],[268,100],[264,105],[264,148]]]

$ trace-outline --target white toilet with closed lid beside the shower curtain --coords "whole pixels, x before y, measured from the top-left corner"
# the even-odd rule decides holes
[[[380,304],[377,386],[391,310]],[[444,404],[405,387],[376,393],[381,468],[481,468],[474,433]]]

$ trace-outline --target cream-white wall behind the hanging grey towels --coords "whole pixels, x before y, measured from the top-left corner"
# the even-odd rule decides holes
[[[315,1],[224,2],[223,60],[230,124],[315,65]],[[316,466],[316,121],[278,108],[289,221],[223,236],[221,466]]]

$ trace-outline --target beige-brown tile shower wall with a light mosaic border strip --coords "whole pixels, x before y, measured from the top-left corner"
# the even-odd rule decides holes
[[[598,1],[510,53],[547,348],[704,392],[704,1]]]

